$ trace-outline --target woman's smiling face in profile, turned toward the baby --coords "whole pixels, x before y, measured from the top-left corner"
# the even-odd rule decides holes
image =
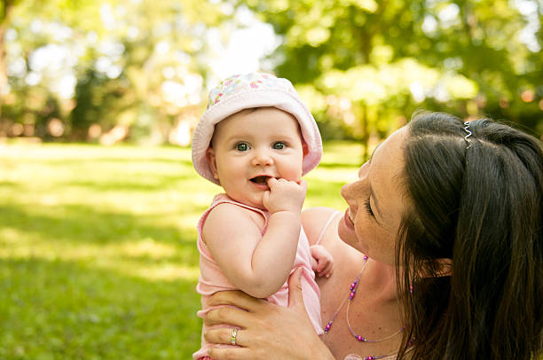
[[[342,187],[349,208],[339,224],[343,241],[379,262],[395,263],[401,216],[407,203],[402,184],[407,129],[398,129],[375,148],[358,171],[358,180]]]

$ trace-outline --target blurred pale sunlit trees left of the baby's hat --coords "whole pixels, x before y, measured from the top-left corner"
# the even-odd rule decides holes
[[[203,39],[209,27],[223,26],[228,12],[195,0],[126,3],[20,2],[9,23],[8,54],[12,64],[24,66],[10,75],[14,99],[4,106],[4,121],[48,121],[36,113],[51,98],[48,93],[59,102],[65,135],[75,140],[86,139],[92,124],[149,137],[171,127],[180,114],[200,111],[209,72]],[[56,65],[43,65],[49,58]],[[27,101],[31,92],[35,97]]]

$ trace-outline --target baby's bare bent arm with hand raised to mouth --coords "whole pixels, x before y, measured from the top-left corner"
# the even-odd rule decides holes
[[[232,204],[215,207],[203,228],[203,237],[224,275],[240,290],[264,298],[285,283],[295,261],[300,236],[301,209],[306,184],[269,179],[264,194],[270,211],[268,228],[248,209]]]

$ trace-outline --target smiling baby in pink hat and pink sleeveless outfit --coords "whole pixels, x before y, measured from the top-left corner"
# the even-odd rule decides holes
[[[329,277],[333,261],[324,247],[309,246],[301,226],[302,176],[321,155],[319,128],[287,79],[235,75],[209,92],[193,134],[193,166],[225,193],[198,223],[200,317],[210,309],[209,295],[222,290],[287,306],[287,278],[302,267],[303,301],[322,333],[314,271]],[[209,346],[202,337],[193,358],[209,359]]]

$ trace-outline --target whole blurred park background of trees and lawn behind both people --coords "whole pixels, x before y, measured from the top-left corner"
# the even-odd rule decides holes
[[[0,359],[190,358],[206,92],[287,77],[306,207],[416,109],[543,133],[541,0],[0,0]]]

